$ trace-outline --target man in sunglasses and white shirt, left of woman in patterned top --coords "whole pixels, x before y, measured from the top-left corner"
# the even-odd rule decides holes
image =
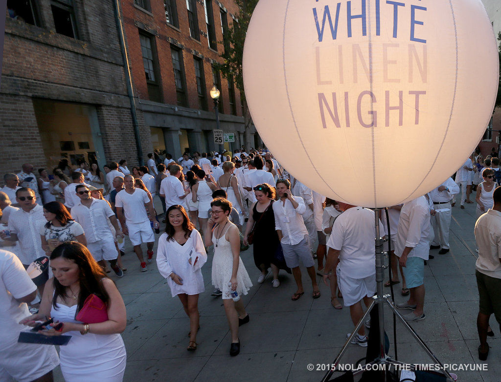
[[[3,240],[18,241],[20,250],[18,257],[23,264],[28,266],[38,257],[45,256],[42,249],[40,229],[47,222],[44,217],[44,208],[37,204],[35,191],[31,188],[21,187],[16,191],[16,201],[20,209],[11,212],[7,232],[0,231]]]

